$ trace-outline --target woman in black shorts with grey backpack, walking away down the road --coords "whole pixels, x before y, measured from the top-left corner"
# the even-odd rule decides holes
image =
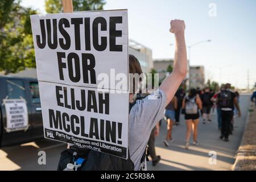
[[[193,130],[193,144],[198,145],[197,125],[199,123],[199,109],[202,109],[202,101],[196,89],[189,90],[188,96],[184,97],[182,109],[185,111],[185,122],[187,125],[185,148],[189,147],[189,139]]]

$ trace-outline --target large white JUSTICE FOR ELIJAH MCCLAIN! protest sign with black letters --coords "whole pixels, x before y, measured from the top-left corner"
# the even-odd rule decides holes
[[[127,10],[31,15],[44,137],[127,158]],[[128,84],[128,80],[126,80]],[[119,91],[127,91],[128,86]]]

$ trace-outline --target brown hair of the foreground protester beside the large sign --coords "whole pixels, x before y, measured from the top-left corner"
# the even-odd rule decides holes
[[[134,55],[129,55],[129,73],[138,73],[138,75],[141,75],[142,73],[141,64],[139,64],[139,60]],[[135,78],[133,78],[133,87],[131,88],[130,85],[130,89],[133,89],[133,91],[130,91],[130,93],[135,93],[135,86],[137,86],[135,84]]]

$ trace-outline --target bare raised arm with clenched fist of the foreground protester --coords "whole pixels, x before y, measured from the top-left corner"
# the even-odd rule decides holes
[[[170,32],[175,35],[174,69],[162,84],[160,90],[166,94],[166,105],[170,103],[181,82],[187,75],[187,49],[185,44],[185,23],[183,20],[172,20]]]

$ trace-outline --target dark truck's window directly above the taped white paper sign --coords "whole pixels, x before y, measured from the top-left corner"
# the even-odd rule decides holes
[[[16,99],[16,98],[26,99],[24,82],[22,80],[6,80],[6,82],[7,82],[7,96],[9,99]]]

